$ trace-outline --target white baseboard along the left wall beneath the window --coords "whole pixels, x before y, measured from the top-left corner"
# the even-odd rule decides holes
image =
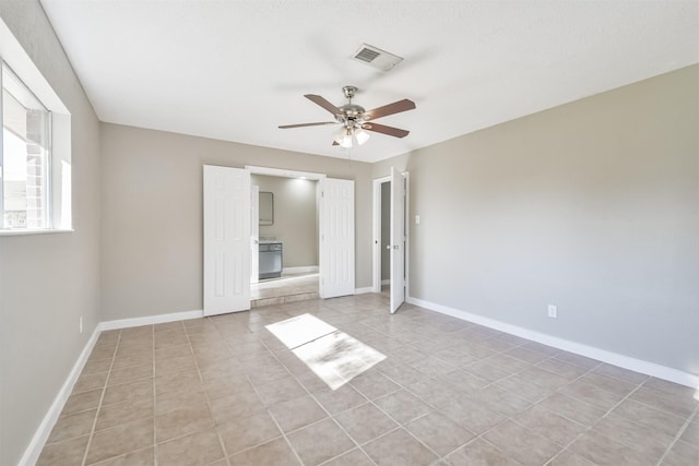
[[[63,406],[66,405],[68,397],[73,391],[73,385],[75,385],[75,382],[78,381],[80,373],[83,371],[83,368],[85,367],[85,362],[87,361],[92,349],[95,347],[95,343],[97,343],[99,332],[99,325],[97,325],[95,331],[92,333],[92,336],[85,344],[85,347],[78,357],[78,360],[73,365],[73,368],[68,374],[66,382],[63,382],[61,390],[59,390],[58,395],[56,395],[56,398],[54,398],[54,403],[51,403],[51,406],[48,408],[46,416],[44,416],[44,419],[42,419],[39,427],[36,429],[36,432],[34,432],[32,441],[27,445],[24,454],[22,455],[22,458],[20,459],[20,466],[33,466],[39,458],[42,450],[44,449],[44,444],[48,440],[48,437],[51,434],[51,430],[54,429],[58,417],[63,410]]]

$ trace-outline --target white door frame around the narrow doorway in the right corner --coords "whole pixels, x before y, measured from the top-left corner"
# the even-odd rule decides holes
[[[405,300],[407,301],[411,296],[411,174],[403,171],[401,175],[405,178]],[[371,248],[374,258],[371,289],[374,292],[381,292],[381,184],[384,182],[391,182],[391,177],[374,179],[374,248]]]

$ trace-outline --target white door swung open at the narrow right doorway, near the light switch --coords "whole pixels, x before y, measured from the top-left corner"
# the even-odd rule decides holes
[[[391,313],[405,301],[405,178],[391,167]]]

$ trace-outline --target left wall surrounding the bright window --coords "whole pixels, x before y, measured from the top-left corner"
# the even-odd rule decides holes
[[[0,16],[72,113],[75,232],[0,237],[0,464],[13,465],[102,320],[100,159],[97,118],[39,2],[0,0]]]

